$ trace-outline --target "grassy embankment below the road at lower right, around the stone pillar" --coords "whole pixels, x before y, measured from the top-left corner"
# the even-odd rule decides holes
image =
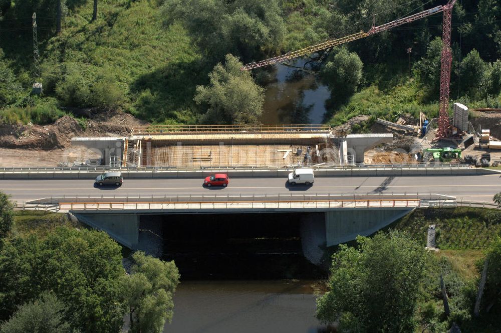
[[[451,311],[455,312],[453,317],[459,321],[461,331],[475,333],[499,331],[497,318],[488,315],[475,318],[470,313],[472,309],[465,307],[464,304],[470,304],[472,307],[474,303],[482,268],[481,262],[485,256],[483,250],[487,248],[491,239],[501,234],[501,212],[481,208],[415,210],[393,223],[390,228],[408,232],[425,246],[430,224],[434,224],[437,228],[436,247],[439,251],[434,254],[440,264],[436,269],[444,276],[449,305]],[[434,304],[436,317],[444,320],[440,297],[435,297],[430,302]],[[425,311],[426,306],[422,304],[420,308],[420,311]],[[458,312],[461,308],[463,310]],[[450,323],[443,328],[449,327]],[[437,331],[437,329],[438,325],[434,329],[420,325],[417,331]]]

